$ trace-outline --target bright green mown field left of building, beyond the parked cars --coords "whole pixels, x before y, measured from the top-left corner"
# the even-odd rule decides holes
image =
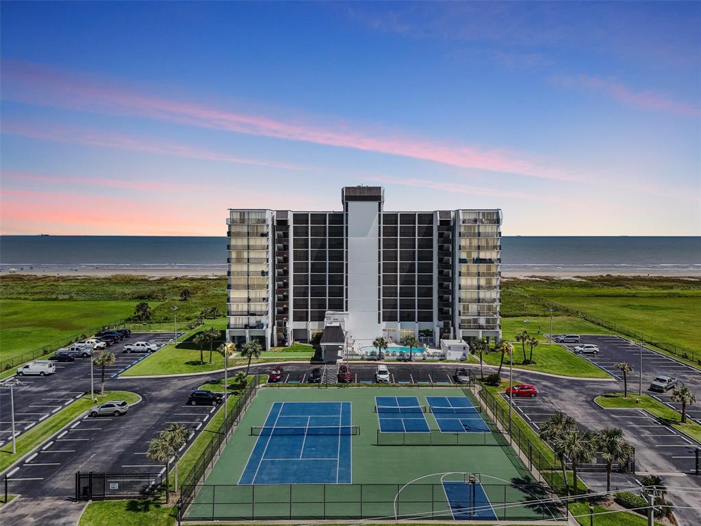
[[[3,278],[2,285],[6,285]],[[85,332],[127,318],[133,301],[29,301],[0,299],[2,359],[15,358],[43,346],[50,350],[74,342]]]

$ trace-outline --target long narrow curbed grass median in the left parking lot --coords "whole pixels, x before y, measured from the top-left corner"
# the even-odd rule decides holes
[[[141,397],[129,391],[105,391],[104,396],[97,397],[98,403],[114,399],[126,400],[128,403],[132,404],[140,400]],[[17,452],[15,454],[12,453],[12,442],[6,443],[6,445],[0,448],[0,471],[3,471],[13,464],[13,462],[22,458],[27,452],[41,444],[81,413],[90,409],[92,405],[93,404],[90,402],[90,395],[85,395],[67,405],[56,414],[51,415],[41,422],[41,424],[36,424],[32,429],[29,429],[26,433],[22,433],[22,435],[17,438]]]

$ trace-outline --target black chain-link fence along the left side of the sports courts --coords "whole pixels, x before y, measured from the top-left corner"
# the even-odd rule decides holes
[[[182,503],[182,508],[186,509],[192,500],[195,498],[198,491],[198,485],[200,478],[204,475],[207,468],[212,466],[212,461],[215,458],[215,454],[221,453],[222,447],[225,444],[226,436],[233,426],[237,426],[243,416],[243,413],[251,404],[256,390],[261,382],[261,377],[259,375],[254,375],[251,378],[250,384],[248,384],[243,391],[239,393],[238,400],[233,407],[229,408],[227,404],[224,407],[226,412],[226,417],[224,422],[219,426],[219,429],[212,434],[212,440],[205,446],[200,457],[195,461],[189,473],[187,473],[182,478],[182,485],[180,486],[180,501]]]

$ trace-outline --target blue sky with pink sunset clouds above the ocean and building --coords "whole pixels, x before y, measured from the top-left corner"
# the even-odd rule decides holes
[[[501,208],[701,234],[699,2],[6,2],[0,233],[224,236],[228,208]]]

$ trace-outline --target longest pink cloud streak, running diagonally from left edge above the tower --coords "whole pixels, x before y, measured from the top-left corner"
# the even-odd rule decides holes
[[[485,149],[445,140],[414,137],[382,129],[353,129],[348,125],[320,124],[309,119],[284,121],[268,116],[233,112],[203,104],[170,100],[18,62],[4,64],[3,97],[31,104],[147,117],[158,121],[344,147],[433,161],[436,163],[529,175],[554,180],[573,177],[545,163],[500,149]]]

